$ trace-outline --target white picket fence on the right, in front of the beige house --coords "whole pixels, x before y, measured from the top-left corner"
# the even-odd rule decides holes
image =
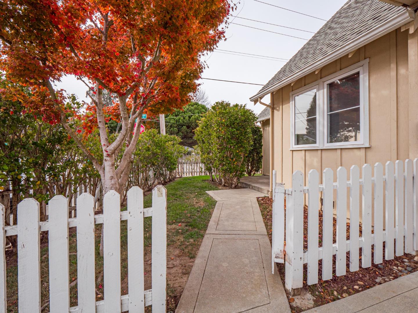
[[[273,171],[273,182],[275,181]],[[359,270],[359,248],[361,266],[368,268],[373,263],[404,253],[415,254],[418,250],[418,158],[414,161],[387,162],[385,175],[383,166],[376,163],[374,177],[372,167],[364,164],[362,178],[359,167],[347,170],[339,167],[334,182],[332,169],[323,172],[323,184],[319,184],[319,174],[311,170],[308,186],[303,185],[303,173],[296,171],[292,176],[292,188],[284,189],[276,184],[273,195],[273,248],[272,262],[285,263],[285,287],[289,291],[303,285],[303,264],[307,263],[306,283],[318,283],[318,261],[322,260],[322,280],[329,280],[333,273],[335,255],[335,275],[346,274],[347,252],[349,270]],[[360,195],[361,187],[361,195]],[[347,193],[349,188],[349,193]],[[336,189],[336,240],[333,240],[333,202]],[[319,199],[322,192],[322,244],[319,245]],[[308,194],[308,249],[303,249],[303,205],[304,194]],[[347,198],[348,197],[348,198]],[[362,209],[362,236],[359,236],[359,209]],[[286,210],[285,210],[286,201]],[[347,203],[349,203],[349,240],[347,236]],[[372,210],[374,218],[372,221]],[[383,216],[385,214],[385,225]],[[286,220],[286,225],[284,220]],[[373,222],[373,224],[372,224]],[[306,223],[306,221],[305,221]],[[373,226],[372,226],[373,225]],[[372,233],[373,230],[373,233]],[[372,254],[372,246],[374,253]]]

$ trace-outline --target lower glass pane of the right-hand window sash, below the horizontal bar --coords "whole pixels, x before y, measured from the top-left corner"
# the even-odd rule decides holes
[[[328,114],[328,143],[360,140],[360,108]]]

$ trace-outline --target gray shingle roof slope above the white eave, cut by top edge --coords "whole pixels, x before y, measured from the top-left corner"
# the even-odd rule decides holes
[[[380,0],[347,1],[257,94],[405,10]]]

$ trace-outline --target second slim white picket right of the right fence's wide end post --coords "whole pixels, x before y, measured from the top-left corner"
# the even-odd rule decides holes
[[[322,280],[332,278],[333,180],[334,172],[332,169],[325,169],[322,178],[324,185],[322,191]]]

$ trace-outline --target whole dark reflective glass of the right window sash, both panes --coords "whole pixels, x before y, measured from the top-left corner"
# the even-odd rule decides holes
[[[328,143],[360,140],[360,74],[328,84]]]

